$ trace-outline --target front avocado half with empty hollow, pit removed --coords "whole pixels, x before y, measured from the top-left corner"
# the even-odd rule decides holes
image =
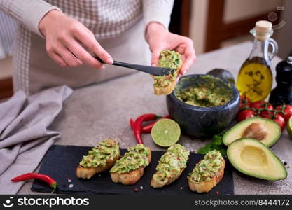
[[[227,148],[227,156],[233,167],[243,174],[270,181],[287,177],[281,160],[256,139],[242,138],[233,141]]]

